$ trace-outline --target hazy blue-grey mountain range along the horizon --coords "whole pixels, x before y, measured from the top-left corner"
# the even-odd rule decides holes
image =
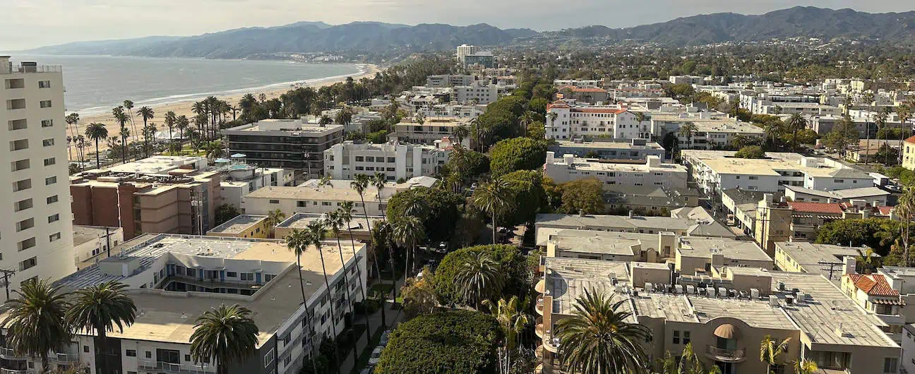
[[[49,54],[125,55],[242,59],[259,55],[360,50],[382,52],[451,50],[460,44],[507,46],[549,45],[557,40],[583,39],[612,43],[623,40],[671,46],[694,46],[727,41],[771,38],[867,38],[915,45],[915,11],[873,14],[852,9],[795,6],[763,15],[716,13],[688,16],[638,27],[589,26],[536,32],[528,28],[501,29],[487,24],[464,27],[443,24],[416,26],[382,22],[328,25],[297,22],[281,27],[245,27],[193,37],[140,37],[62,44],[30,50]]]

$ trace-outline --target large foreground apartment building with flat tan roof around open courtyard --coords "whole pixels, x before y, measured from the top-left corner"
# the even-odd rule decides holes
[[[336,249],[337,243],[325,244],[331,246]],[[366,280],[357,266],[365,269],[366,247],[341,246],[323,259],[311,246],[298,259],[299,267],[282,240],[169,234],[130,240],[116,248],[117,255],[58,285],[71,292],[108,280],[125,283],[137,307],[135,323],[109,333],[107,352],[97,351],[92,336],[72,337],[68,347],[51,355],[46,369],[85,366],[97,372],[105,355],[112,372],[215,373],[216,362],[194,362],[189,339],[200,315],[214,305],[238,304],[253,310],[259,331],[254,350],[232,362],[228,372],[297,373],[324,338],[334,337],[334,328],[343,331],[349,302],[361,301]],[[40,368],[40,362],[15,354],[5,355],[2,364],[10,372]]]

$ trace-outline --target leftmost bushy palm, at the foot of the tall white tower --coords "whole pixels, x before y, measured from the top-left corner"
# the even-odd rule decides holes
[[[13,293],[16,298],[0,306],[6,345],[23,356],[41,358],[42,368],[48,369],[48,352],[70,343],[67,295],[48,279],[27,281]]]

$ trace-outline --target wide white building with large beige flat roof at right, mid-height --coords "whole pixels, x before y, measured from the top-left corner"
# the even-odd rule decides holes
[[[874,178],[829,158],[768,152],[767,158],[735,158],[734,151],[684,150],[691,179],[705,193],[737,188],[784,192],[785,186],[832,191],[873,187]]]

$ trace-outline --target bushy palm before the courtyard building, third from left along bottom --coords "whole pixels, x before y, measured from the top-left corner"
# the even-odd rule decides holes
[[[257,325],[251,310],[241,305],[220,305],[197,318],[190,335],[194,362],[216,362],[217,374],[228,374],[229,364],[241,362],[257,348]]]

